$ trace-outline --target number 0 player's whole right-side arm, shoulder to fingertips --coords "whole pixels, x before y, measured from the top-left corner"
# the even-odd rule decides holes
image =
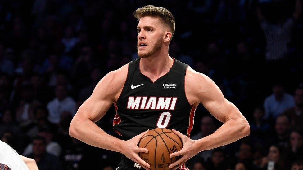
[[[170,157],[182,155],[178,161],[170,165],[170,168],[180,167],[185,161],[201,151],[227,145],[248,136],[250,133],[246,118],[233,103],[224,98],[219,87],[208,76],[188,67],[185,77],[185,91],[188,101],[192,105],[201,102],[215,118],[224,124],[213,134],[195,141],[173,130],[181,138],[183,148],[170,154]]]

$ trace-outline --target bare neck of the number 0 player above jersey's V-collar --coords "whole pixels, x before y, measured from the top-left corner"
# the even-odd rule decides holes
[[[165,50],[166,51],[166,50]],[[168,55],[168,50],[140,59],[140,71],[148,76],[152,81],[165,75],[174,63],[174,59]]]

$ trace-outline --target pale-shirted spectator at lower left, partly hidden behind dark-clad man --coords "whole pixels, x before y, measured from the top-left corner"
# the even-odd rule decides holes
[[[54,136],[53,132],[48,128],[41,128],[39,129],[38,135],[43,137],[47,153],[59,157],[61,154],[61,146],[57,142],[52,141],[52,138]],[[34,143],[31,143],[26,146],[23,155],[31,154],[33,152],[33,147]]]

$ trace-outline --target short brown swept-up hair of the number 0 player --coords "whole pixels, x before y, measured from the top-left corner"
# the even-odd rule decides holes
[[[170,31],[172,33],[172,36],[174,35],[175,32],[175,19],[173,14],[168,11],[165,8],[162,7],[156,7],[153,5],[147,5],[142,8],[138,8],[134,13],[133,16],[136,17],[138,20],[140,20],[141,17],[143,16],[157,16],[160,17],[161,20],[167,24],[170,28]]]

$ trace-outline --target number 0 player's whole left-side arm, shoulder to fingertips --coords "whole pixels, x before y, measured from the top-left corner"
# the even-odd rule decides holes
[[[112,103],[118,99],[126,80],[127,71],[128,64],[109,72],[102,78],[96,85],[93,94],[79,107],[70,123],[69,134],[89,145],[120,152],[139,163],[143,168],[148,169],[149,164],[138,155],[138,152],[148,152],[148,150],[137,146],[146,132],[129,141],[124,141],[107,134],[95,124],[106,114]]]

